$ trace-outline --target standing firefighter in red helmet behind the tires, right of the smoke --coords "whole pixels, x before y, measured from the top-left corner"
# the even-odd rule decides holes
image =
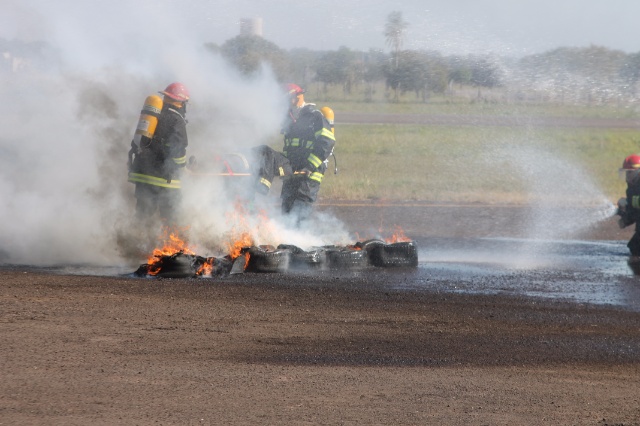
[[[336,139],[322,112],[305,102],[300,86],[287,84],[286,92],[289,110],[282,127],[283,154],[294,174],[282,183],[282,212],[295,215],[300,224],[311,214]]]

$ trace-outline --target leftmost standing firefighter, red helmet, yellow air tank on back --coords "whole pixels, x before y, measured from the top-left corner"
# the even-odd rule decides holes
[[[161,105],[154,107],[153,100],[145,102],[131,142],[129,182],[136,185],[137,219],[150,219],[157,212],[161,220],[175,223],[181,199],[180,171],[187,162],[185,116],[189,91],[176,82],[158,93],[163,99],[155,102]],[[159,98],[154,95],[147,101],[154,97]]]

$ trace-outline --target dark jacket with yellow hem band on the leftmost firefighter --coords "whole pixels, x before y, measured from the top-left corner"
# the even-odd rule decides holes
[[[187,163],[189,145],[186,125],[184,106],[178,108],[165,102],[153,138],[141,140],[129,171],[129,182],[180,188],[179,172]]]

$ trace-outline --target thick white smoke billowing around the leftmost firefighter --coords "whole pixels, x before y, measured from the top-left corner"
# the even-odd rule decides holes
[[[146,260],[140,256],[148,247],[138,244],[146,230],[130,220],[135,201],[127,151],[144,99],[171,82],[184,83],[191,93],[187,155],[200,163],[277,135],[283,99],[270,71],[251,80],[239,76],[204,48],[209,40],[190,35],[180,7],[188,3],[3,5],[3,13],[20,20],[20,35],[31,38],[26,41],[46,41],[60,61],[44,70],[0,74],[0,263]],[[215,250],[237,226],[233,191],[225,191],[219,178],[187,181],[185,234],[194,247]],[[269,210],[274,200],[262,210],[277,216],[277,209]],[[287,235],[285,224],[269,220],[267,232],[269,226],[258,220],[248,219],[256,243],[295,243],[280,240]],[[334,240],[344,234],[335,228],[329,237]]]

